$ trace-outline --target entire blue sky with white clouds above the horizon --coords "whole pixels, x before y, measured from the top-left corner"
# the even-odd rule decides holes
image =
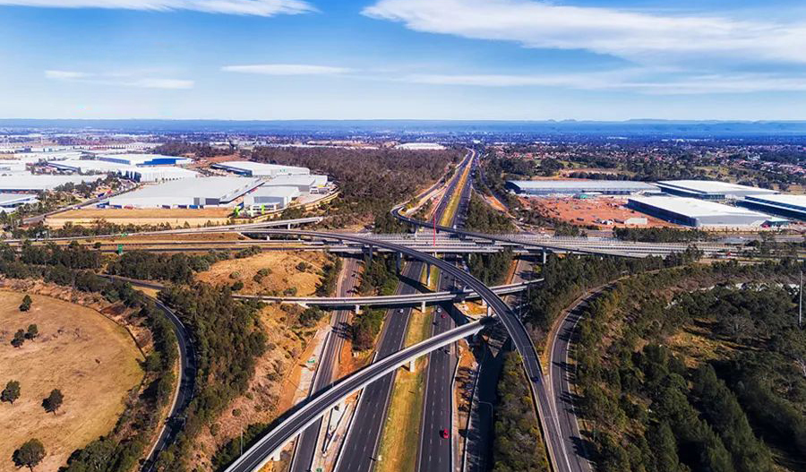
[[[806,119],[806,6],[0,0],[0,67],[0,117]]]

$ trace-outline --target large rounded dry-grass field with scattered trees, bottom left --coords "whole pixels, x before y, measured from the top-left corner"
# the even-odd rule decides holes
[[[23,313],[22,296],[0,292],[0,387],[21,383],[20,399],[0,404],[0,470],[18,470],[10,458],[30,438],[47,451],[38,469],[56,470],[73,451],[112,429],[130,391],[139,387],[142,356],[129,333],[99,312],[30,294],[33,305]],[[32,323],[39,337],[13,348],[14,331]],[[41,406],[53,389],[64,393],[56,415]]]

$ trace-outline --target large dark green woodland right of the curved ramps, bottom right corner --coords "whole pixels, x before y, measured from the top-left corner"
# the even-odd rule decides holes
[[[622,279],[589,304],[574,352],[600,470],[772,471],[765,444],[771,439],[802,454],[792,438],[806,431],[806,383],[794,358],[806,351],[797,340],[776,342],[793,332],[802,336],[793,329],[792,296],[772,285],[733,287],[785,281],[797,270],[789,261],[665,269]],[[732,351],[735,361],[689,368],[666,347],[669,336],[692,323],[706,327],[703,333],[713,328],[714,339],[739,342],[721,326],[743,317],[753,330]],[[769,352],[770,346],[787,346],[790,354]],[[749,360],[756,356],[764,361]],[[781,372],[794,382],[779,383]]]

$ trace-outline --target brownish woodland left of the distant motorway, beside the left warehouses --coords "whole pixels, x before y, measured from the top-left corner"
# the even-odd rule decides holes
[[[252,159],[309,167],[331,176],[341,195],[330,212],[362,219],[407,202],[418,189],[438,180],[446,167],[458,163],[462,154],[462,150],[256,148]]]

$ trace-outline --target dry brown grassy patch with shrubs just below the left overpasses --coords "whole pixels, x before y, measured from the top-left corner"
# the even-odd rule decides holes
[[[287,288],[296,288],[296,296],[311,296],[319,284],[322,266],[327,257],[319,252],[267,252],[216,262],[210,270],[196,274],[196,279],[212,285],[231,285],[236,280],[244,282],[243,294],[269,295],[282,293]],[[304,263],[305,270],[300,270]],[[270,274],[260,282],[254,276],[258,270],[268,269]]]

